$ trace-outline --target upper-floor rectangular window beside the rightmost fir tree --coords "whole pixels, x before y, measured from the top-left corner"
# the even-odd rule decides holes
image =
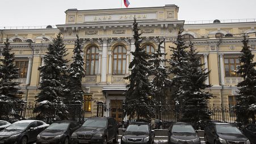
[[[239,58],[224,58],[225,77],[240,77],[240,74],[236,73],[240,65]]]

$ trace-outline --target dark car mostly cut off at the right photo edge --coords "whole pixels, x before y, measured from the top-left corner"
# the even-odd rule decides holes
[[[247,138],[249,138],[251,144],[256,144],[256,124],[247,125],[244,129],[242,129],[242,132]]]

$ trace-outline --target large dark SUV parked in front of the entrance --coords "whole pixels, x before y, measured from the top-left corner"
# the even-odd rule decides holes
[[[71,136],[71,143],[104,143],[118,140],[118,125],[112,117],[88,118]]]

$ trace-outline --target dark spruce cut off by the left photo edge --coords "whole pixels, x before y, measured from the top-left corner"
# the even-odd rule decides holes
[[[0,116],[9,115],[10,107],[12,109],[19,108],[24,101],[18,95],[23,94],[18,88],[19,82],[14,82],[19,78],[19,69],[14,64],[14,53],[9,48],[9,39],[4,43],[5,47],[1,52],[3,59],[0,60]],[[14,104],[14,105],[13,105]]]

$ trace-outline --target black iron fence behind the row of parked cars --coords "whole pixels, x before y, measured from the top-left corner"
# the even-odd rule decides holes
[[[0,120],[6,120],[10,122],[19,121],[19,120],[28,120],[28,119],[37,119],[43,120],[45,122],[51,123],[53,121],[58,120],[75,120],[79,122],[84,121],[85,111],[82,109],[81,104],[68,104],[67,113],[65,114],[65,118],[53,117],[52,119],[44,119],[38,118],[37,115],[39,113],[34,112],[34,109],[37,107],[36,104],[5,104],[0,105]],[[117,122],[128,122],[129,120],[136,120],[137,116],[129,117],[125,112],[125,105],[106,105],[103,103],[98,103],[96,105],[96,112],[93,112],[93,116],[98,117],[114,117]],[[170,125],[172,122],[178,122],[182,120],[184,113],[186,113],[188,108],[191,107],[183,107],[183,106],[175,106],[175,105],[154,105],[153,106],[156,112],[155,117],[152,117],[151,121],[154,121],[156,124],[158,122],[162,122],[163,125]],[[211,121],[216,122],[228,122],[230,124],[236,123],[236,113],[235,108],[226,105],[212,105],[209,106],[207,111],[209,112],[209,116],[211,117]],[[51,113],[51,112],[49,112]],[[58,113],[58,110],[52,112],[53,115]],[[200,113],[199,113],[200,115]],[[143,117],[139,117],[139,119],[143,120]],[[199,126],[199,124],[194,124]],[[165,126],[164,126],[165,127]]]

